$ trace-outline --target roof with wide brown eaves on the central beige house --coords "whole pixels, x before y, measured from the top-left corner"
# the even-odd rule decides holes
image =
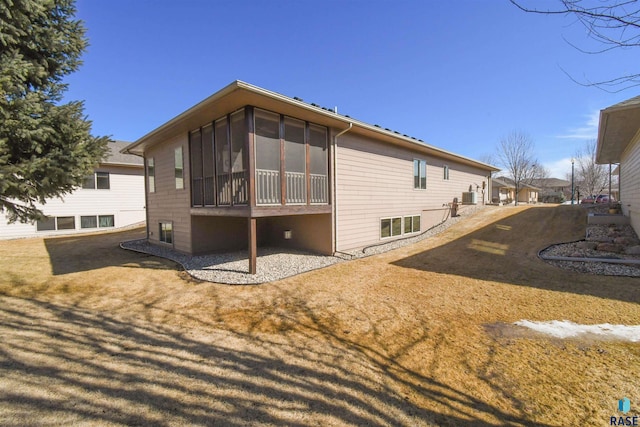
[[[308,104],[299,98],[290,98],[239,80],[227,85],[200,103],[152,130],[123,151],[136,155],[144,155],[148,147],[180,135],[183,132],[196,129],[204,123],[210,122],[213,119],[246,105],[277,111],[281,114],[312,121],[328,127],[350,129],[350,132],[355,132],[363,136],[373,137],[390,144],[422,151],[487,171],[499,170],[495,166],[434,147],[416,138],[402,135],[389,129],[383,129],[376,125],[370,125],[349,116],[338,114],[331,109],[322,108],[315,104]]]

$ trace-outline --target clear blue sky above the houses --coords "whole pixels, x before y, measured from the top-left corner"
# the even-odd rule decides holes
[[[553,8],[555,0],[536,5]],[[598,112],[637,95],[574,83],[637,72],[587,55],[574,18],[508,0],[78,0],[90,46],[67,78],[93,133],[135,141],[234,80],[338,107],[471,158],[527,133],[564,178]],[[563,71],[564,70],[564,71]]]

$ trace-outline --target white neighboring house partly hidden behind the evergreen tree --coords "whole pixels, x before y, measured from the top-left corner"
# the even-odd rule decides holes
[[[47,218],[7,224],[0,214],[0,239],[114,229],[145,221],[144,163],[122,154],[127,142],[109,143],[110,153],[81,188],[38,205]]]

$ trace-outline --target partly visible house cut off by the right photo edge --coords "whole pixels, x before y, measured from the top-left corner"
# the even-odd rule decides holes
[[[640,96],[600,111],[596,162],[619,163],[618,200],[640,234]]]

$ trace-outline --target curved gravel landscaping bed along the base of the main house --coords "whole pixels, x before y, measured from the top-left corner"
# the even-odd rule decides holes
[[[202,256],[190,256],[171,248],[153,245],[146,239],[132,240],[121,243],[124,249],[167,258],[182,265],[191,276],[196,279],[215,283],[233,285],[250,285],[272,282],[295,276],[318,268],[323,268],[342,262],[345,259],[362,258],[387,252],[405,245],[418,242],[434,236],[461,219],[483,209],[484,206],[465,206],[459,215],[449,218],[445,222],[408,239],[394,240],[382,245],[370,246],[350,252],[338,253],[337,256],[317,255],[296,249],[265,247],[258,248],[257,272],[249,274],[247,251],[218,253]]]

